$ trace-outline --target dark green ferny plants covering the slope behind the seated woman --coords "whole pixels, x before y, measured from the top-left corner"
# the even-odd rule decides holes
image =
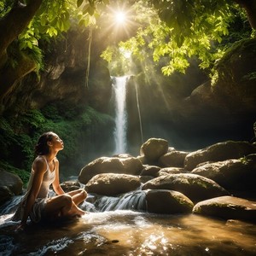
[[[50,104],[41,111],[32,109],[15,118],[1,116],[0,144],[4,149],[1,150],[0,167],[17,173],[26,183],[38,137],[45,131],[55,131],[65,143],[65,149],[58,156],[61,169],[66,176],[72,172],[78,175],[79,168],[93,157],[90,149],[97,146],[96,137],[101,135],[108,143],[106,137],[111,129],[113,122],[107,114],[90,107],[69,109],[61,102]],[[86,144],[82,143],[85,141]],[[101,152],[99,148],[98,152]],[[73,170],[65,168],[66,165]]]

